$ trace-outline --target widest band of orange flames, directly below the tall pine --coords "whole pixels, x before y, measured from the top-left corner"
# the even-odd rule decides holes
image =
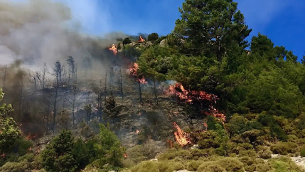
[[[194,101],[208,101],[216,103],[218,99],[217,95],[208,94],[204,91],[189,91],[183,87],[183,85],[176,83],[175,85],[170,85],[168,90],[165,90],[166,95],[175,95],[179,97],[180,100],[184,100],[188,103],[193,103]],[[212,105],[209,106],[209,112],[203,111],[207,115],[213,115],[215,118],[220,120],[222,123],[226,120],[224,114],[219,113]]]

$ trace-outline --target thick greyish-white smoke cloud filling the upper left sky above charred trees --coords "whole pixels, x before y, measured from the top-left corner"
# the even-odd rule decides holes
[[[92,12],[74,17],[68,6],[73,2],[69,2],[0,0],[0,65],[21,59],[30,67],[42,66],[43,63],[51,66],[68,56],[73,56],[76,61],[88,56],[93,39],[79,31],[83,28],[81,22],[90,16],[92,20],[88,22],[96,22],[96,9],[92,7],[96,4],[88,1],[85,6],[83,3],[83,8]],[[90,24],[88,22],[85,24]],[[103,24],[107,29],[106,21]],[[109,43],[112,41],[104,41],[104,46]]]

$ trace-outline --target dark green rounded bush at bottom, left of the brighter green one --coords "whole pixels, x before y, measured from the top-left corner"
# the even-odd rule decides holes
[[[71,172],[84,168],[95,157],[93,144],[89,140],[74,140],[70,130],[62,130],[44,151],[41,152],[42,165],[47,171]]]

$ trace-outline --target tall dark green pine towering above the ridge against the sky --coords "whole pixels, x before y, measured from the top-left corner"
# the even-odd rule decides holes
[[[215,57],[221,62],[226,54],[248,46],[245,38],[252,30],[232,0],[186,0],[179,12],[181,19],[176,21],[173,36],[185,40],[180,49],[185,54]]]

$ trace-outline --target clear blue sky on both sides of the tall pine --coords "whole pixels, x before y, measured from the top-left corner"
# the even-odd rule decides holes
[[[184,0],[55,0],[70,6],[74,20],[84,32],[102,35],[122,31],[127,34],[170,33],[179,18]],[[304,0],[235,0],[253,31],[267,35],[275,45],[292,50],[300,58],[305,51]]]

